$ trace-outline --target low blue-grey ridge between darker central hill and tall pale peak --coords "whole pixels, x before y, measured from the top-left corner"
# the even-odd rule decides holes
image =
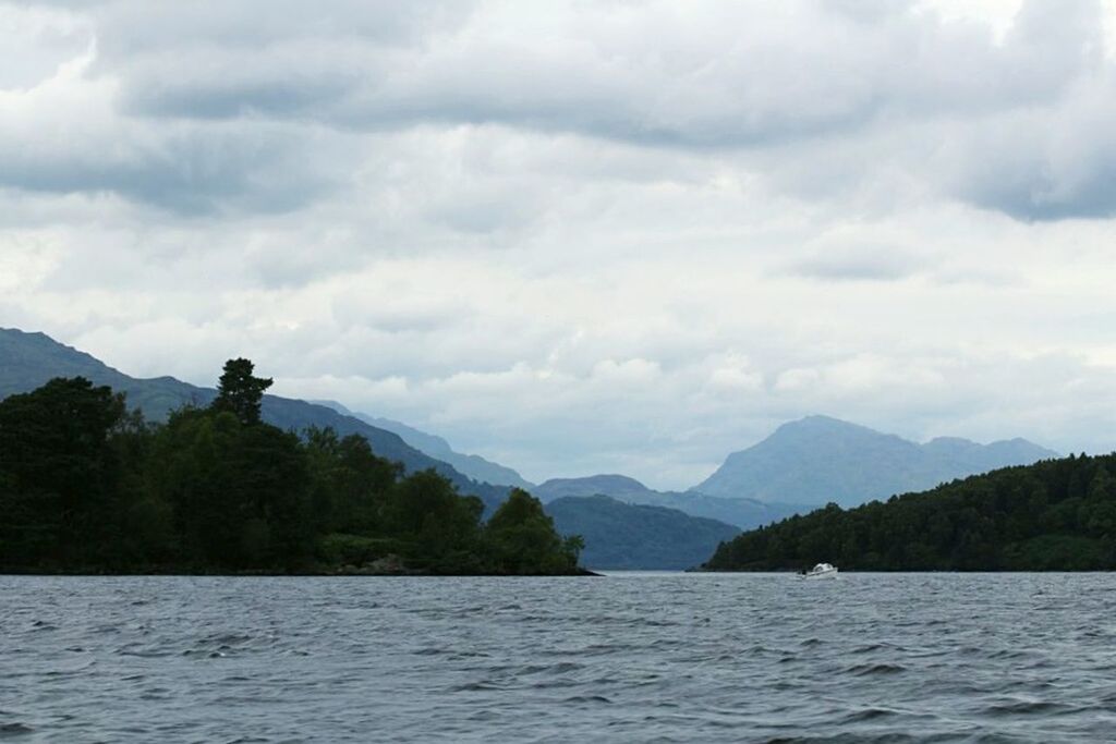
[[[677,509],[692,516],[718,520],[744,530],[809,511],[808,506],[763,503],[753,499],[723,499],[694,492],[654,491],[626,475],[552,479],[535,486],[531,493],[542,503],[568,496],[605,495],[631,504]]]

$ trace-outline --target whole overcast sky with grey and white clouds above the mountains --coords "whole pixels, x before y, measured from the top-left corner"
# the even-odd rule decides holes
[[[0,326],[542,480],[1116,447],[1116,2],[0,1]]]

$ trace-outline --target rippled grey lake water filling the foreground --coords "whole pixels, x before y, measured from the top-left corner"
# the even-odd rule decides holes
[[[1106,573],[0,577],[0,738],[1104,742],[1114,641]]]

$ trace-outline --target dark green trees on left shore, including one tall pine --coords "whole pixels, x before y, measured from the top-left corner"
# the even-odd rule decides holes
[[[0,571],[577,571],[580,538],[530,494],[485,523],[480,499],[359,435],[262,422],[253,371],[230,360],[210,406],[164,424],[81,377],[0,400]]]

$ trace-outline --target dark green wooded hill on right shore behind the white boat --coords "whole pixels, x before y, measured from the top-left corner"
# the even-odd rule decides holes
[[[843,511],[835,504],[721,543],[711,570],[1116,569],[1116,455],[1008,467]]]

